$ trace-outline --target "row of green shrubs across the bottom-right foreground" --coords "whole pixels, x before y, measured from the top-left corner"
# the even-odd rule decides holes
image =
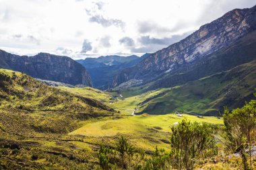
[[[255,104],[255,101],[251,101],[249,105],[252,103]],[[245,110],[245,108],[248,109],[248,104],[245,105],[244,108],[237,110]],[[251,111],[255,112],[255,109],[255,105],[253,105]],[[225,113],[226,116],[224,118],[228,121],[228,117],[233,117],[233,114],[236,114],[237,110],[234,110],[234,113],[232,114]],[[247,114],[251,115],[251,112],[247,112]],[[243,120],[243,116],[238,116],[236,118],[237,120],[236,122],[233,122],[233,125],[225,124],[223,130],[213,124],[199,124],[198,122],[191,123],[184,119],[177,126],[172,126],[171,128],[170,151],[166,152],[164,149],[158,149],[156,146],[156,150],[152,155],[145,155],[141,150],[131,145],[127,138],[121,136],[115,145],[116,148],[114,147],[110,149],[104,145],[100,146],[100,151],[98,153],[100,167],[102,167],[102,169],[195,169],[201,165],[202,161],[205,162],[207,159],[218,157],[218,140],[216,135],[226,132],[226,137],[232,138],[232,136],[230,137],[230,128],[239,126],[238,124]],[[253,119],[253,121],[255,121],[255,118]],[[255,122],[253,125],[255,126]],[[251,132],[255,132],[255,127],[251,129]],[[247,134],[250,135],[251,132]],[[239,140],[241,141],[242,163],[239,163],[238,159],[236,159],[235,166],[238,168],[243,167],[243,169],[253,169],[256,167],[256,164],[252,163],[252,161],[250,161],[250,164],[248,163],[247,153],[245,151],[245,148],[249,148],[249,153],[251,153],[251,146],[248,145],[250,140],[243,137],[244,135],[245,134],[241,132],[242,138]],[[252,141],[253,144],[255,144],[255,135]],[[228,149],[228,144],[230,143],[224,142],[223,144],[226,144],[226,149]],[[237,151],[233,151],[232,153],[235,152]],[[231,156],[228,155],[228,157]],[[207,161],[205,163],[207,163]],[[217,163],[217,161],[214,160],[214,163]]]

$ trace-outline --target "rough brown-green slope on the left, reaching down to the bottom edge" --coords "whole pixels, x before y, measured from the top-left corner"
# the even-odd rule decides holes
[[[94,146],[66,134],[85,120],[115,115],[108,106],[4,69],[0,69],[0,96],[0,169],[94,165]]]

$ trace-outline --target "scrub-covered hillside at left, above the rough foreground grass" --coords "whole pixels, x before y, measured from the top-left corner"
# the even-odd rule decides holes
[[[0,69],[0,80],[1,128],[8,131],[68,132],[77,121],[114,111],[95,99],[49,87],[24,73]]]

